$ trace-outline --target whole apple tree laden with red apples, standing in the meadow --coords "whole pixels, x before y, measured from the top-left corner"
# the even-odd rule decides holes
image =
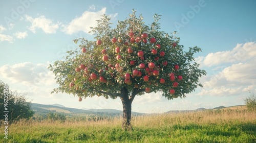
[[[120,98],[123,105],[123,129],[131,129],[132,102],[136,96],[161,92],[168,100],[185,98],[185,94],[201,86],[199,77],[206,75],[195,62],[197,46],[183,51],[175,33],[160,31],[160,15],[151,25],[145,25],[136,11],[118,21],[112,28],[111,18],[102,15],[91,28],[95,40],[74,39],[80,43],[67,51],[65,60],[55,61],[49,68],[56,76],[58,88],[79,97],[103,96]]]

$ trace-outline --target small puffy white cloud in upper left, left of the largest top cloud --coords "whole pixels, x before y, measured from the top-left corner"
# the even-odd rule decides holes
[[[35,33],[36,29],[42,29],[45,33],[56,33],[56,30],[59,28],[59,23],[53,23],[51,19],[47,19],[44,15],[41,15],[37,18],[25,15],[27,21],[31,22],[29,30]]]

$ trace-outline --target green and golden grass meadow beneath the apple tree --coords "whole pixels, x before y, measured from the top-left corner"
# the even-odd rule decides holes
[[[0,142],[256,142],[256,113],[244,107],[136,116],[132,131],[121,121],[20,121],[8,127],[8,139],[1,126]]]

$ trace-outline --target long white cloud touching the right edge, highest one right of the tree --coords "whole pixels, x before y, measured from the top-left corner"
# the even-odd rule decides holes
[[[256,56],[256,43],[237,44],[231,51],[209,53],[206,57],[198,57],[196,61],[201,66],[216,66],[223,63],[239,63]]]

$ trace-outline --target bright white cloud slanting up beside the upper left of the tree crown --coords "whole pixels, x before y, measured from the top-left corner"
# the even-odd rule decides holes
[[[67,34],[73,34],[79,31],[88,33],[89,31],[91,31],[90,27],[96,27],[96,20],[100,19],[101,15],[105,13],[106,8],[102,8],[100,11],[97,12],[85,11],[80,17],[73,19],[68,25],[62,25],[62,31]]]

